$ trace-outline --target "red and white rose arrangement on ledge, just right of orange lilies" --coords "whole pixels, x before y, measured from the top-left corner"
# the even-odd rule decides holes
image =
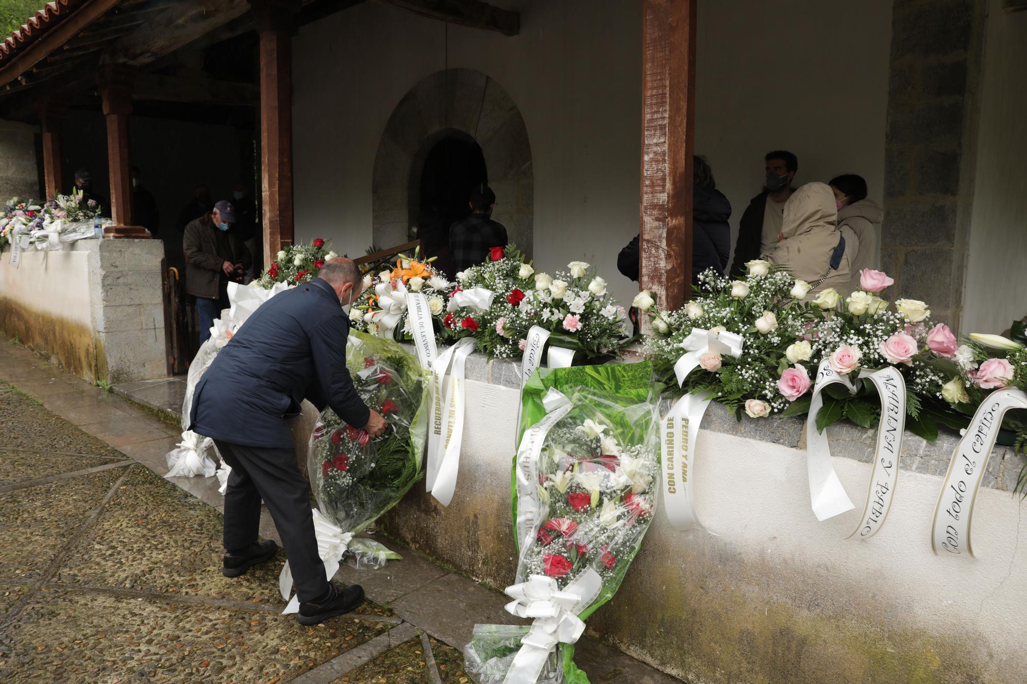
[[[553,277],[536,271],[514,244],[494,248],[490,259],[457,273],[443,321],[454,337],[472,335],[489,357],[520,356],[533,326],[549,331],[550,345],[594,363],[616,356],[632,341],[623,307],[591,265],[572,261]]]

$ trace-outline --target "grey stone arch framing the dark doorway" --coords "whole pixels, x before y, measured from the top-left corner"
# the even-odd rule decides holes
[[[528,128],[499,83],[473,69],[436,72],[417,83],[395,106],[378,143],[371,185],[374,243],[407,241],[416,225],[420,175],[428,150],[448,131],[472,138],[482,148],[489,185],[496,193],[493,218],[529,257],[534,241],[534,174]]]

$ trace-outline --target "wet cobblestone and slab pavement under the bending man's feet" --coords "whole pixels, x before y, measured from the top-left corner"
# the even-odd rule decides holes
[[[336,581],[368,600],[281,615],[277,558],[221,575],[216,479],[160,477],[179,427],[0,343],[0,681],[465,683],[474,621],[504,598],[403,547]],[[277,538],[266,511],[261,533]],[[674,680],[596,642],[593,682]]]

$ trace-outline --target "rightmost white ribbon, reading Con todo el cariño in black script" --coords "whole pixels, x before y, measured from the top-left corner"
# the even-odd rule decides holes
[[[1002,417],[1010,409],[1027,409],[1023,390],[999,389],[986,396],[952,453],[930,527],[930,548],[937,556],[952,558],[965,550],[975,558],[971,543],[974,504]]]

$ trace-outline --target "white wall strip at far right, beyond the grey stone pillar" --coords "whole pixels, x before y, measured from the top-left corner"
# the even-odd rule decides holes
[[[991,0],[984,46],[977,173],[963,295],[965,333],[1001,333],[1027,314],[1027,12]]]

